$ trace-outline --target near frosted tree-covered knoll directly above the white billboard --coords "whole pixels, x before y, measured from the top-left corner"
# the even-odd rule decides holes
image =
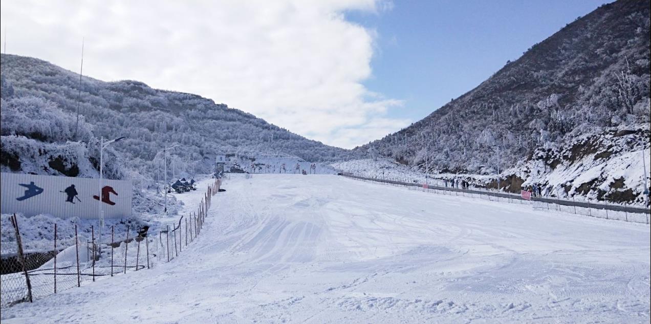
[[[92,126],[62,111],[51,101],[34,96],[3,98],[0,139],[1,169],[9,172],[95,177],[99,169],[99,141]],[[124,178],[113,148],[104,152],[106,178]]]

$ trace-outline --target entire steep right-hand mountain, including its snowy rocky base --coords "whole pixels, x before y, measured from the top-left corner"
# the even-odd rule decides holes
[[[562,187],[561,195],[641,200],[641,150],[650,146],[649,16],[648,1],[602,5],[477,88],[357,150],[413,169],[427,164],[434,173],[499,169],[510,191],[541,183]],[[615,172],[613,163],[637,169]]]

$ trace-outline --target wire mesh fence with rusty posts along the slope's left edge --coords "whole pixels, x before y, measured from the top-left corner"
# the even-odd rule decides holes
[[[18,217],[12,215],[1,224],[11,226],[3,232],[13,232],[13,239],[3,241],[3,251],[8,252],[0,258],[0,308],[174,260],[201,234],[212,196],[220,187],[221,180],[216,179],[208,185],[197,211],[164,225],[156,234],[149,232],[148,226],[122,230],[111,226],[105,228],[110,239],[100,239],[94,225],[81,228],[75,224],[72,232],[55,223],[51,232],[38,229],[42,237],[53,239],[22,241],[21,230],[34,229],[21,227]]]

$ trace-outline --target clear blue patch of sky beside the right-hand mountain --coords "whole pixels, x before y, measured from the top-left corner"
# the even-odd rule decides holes
[[[417,121],[477,87],[598,0],[395,1],[379,14],[346,12],[376,31],[368,90],[404,100],[389,118]]]

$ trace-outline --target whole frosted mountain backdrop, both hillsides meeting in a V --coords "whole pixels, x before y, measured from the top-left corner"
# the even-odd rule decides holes
[[[193,94],[90,77],[80,86],[75,72],[2,55],[0,169],[94,176],[98,137],[127,135],[107,152],[109,178],[151,180],[161,169],[156,153],[178,143],[179,173],[208,172],[215,154],[327,162],[383,155],[414,172],[427,166],[438,178],[464,174],[482,187],[497,187],[499,178],[512,192],[535,183],[550,195],[641,203],[649,14],[644,1],[603,5],[423,120],[352,151]],[[117,158],[123,167],[111,163]],[[359,167],[337,167],[346,165]]]

